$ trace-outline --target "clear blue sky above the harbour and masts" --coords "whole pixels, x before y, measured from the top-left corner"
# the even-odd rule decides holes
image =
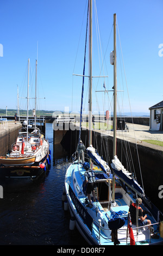
[[[72,74],[83,73],[86,3],[87,0],[0,1],[0,44],[3,45],[0,108],[16,108],[17,84],[21,91],[28,58],[34,70],[38,42],[39,96],[46,97],[40,104],[41,109],[80,109],[82,80]],[[108,44],[113,14],[117,14],[131,110],[148,112],[149,107],[163,100],[163,57],[159,56],[159,45],[163,44],[163,1],[96,0],[96,5],[104,48]],[[109,70],[107,89],[112,86],[112,66],[109,64],[112,35],[109,47],[105,56]],[[99,97],[102,99],[104,95]],[[86,108],[87,103],[84,106]],[[125,107],[124,111],[129,108]]]

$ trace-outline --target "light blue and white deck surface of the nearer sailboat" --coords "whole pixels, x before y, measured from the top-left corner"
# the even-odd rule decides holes
[[[92,202],[92,208],[87,207],[86,204],[86,196],[83,193],[83,181],[84,181],[84,173],[85,169],[83,168],[82,164],[77,164],[77,162],[74,162],[74,164],[71,164],[71,166],[68,168],[66,179],[66,186],[70,185],[72,193],[73,193],[73,199],[69,197],[71,201],[71,205],[73,205],[72,211],[78,212],[76,222],[83,223],[84,229],[88,229],[89,233],[91,232],[91,236],[93,237],[95,244],[100,245],[114,245],[114,242],[111,240],[111,230],[108,227],[108,221],[110,220],[112,212],[116,212],[120,214],[118,217],[125,219],[125,223],[123,227],[118,229],[118,237],[117,239],[121,242],[121,245],[127,245],[130,244],[130,238],[127,238],[127,227],[128,227],[128,211],[129,211],[129,203],[134,202],[134,198],[132,197],[132,194],[128,194],[126,196],[126,192],[124,192],[123,197],[117,198],[115,200],[116,205],[109,206],[108,202],[99,202],[98,198],[96,202]],[[68,187],[67,187],[68,190]],[[116,192],[120,194],[120,188],[116,188]],[[68,193],[70,196],[70,191]],[[128,198],[127,198],[128,197]],[[74,202],[73,202],[74,200]],[[77,203],[78,200],[78,203]],[[126,201],[128,203],[126,203]],[[69,202],[70,203],[70,202]],[[109,206],[109,207],[108,207]],[[78,209],[77,209],[78,208]],[[83,217],[79,214],[79,211],[82,212],[83,215],[88,216],[89,218],[92,218],[92,224],[90,225],[88,222],[83,222]],[[148,216],[148,218],[152,221],[152,223],[155,223],[154,220],[152,220],[151,216]],[[99,232],[99,220],[101,220],[101,231]],[[89,224],[89,227],[87,226]],[[134,233],[134,239],[136,242],[136,245],[149,245],[150,243],[156,243],[156,242],[162,242],[162,239],[160,236],[158,236],[158,239],[151,238],[150,240],[150,231],[148,227],[139,227],[138,232],[136,231],[136,226],[132,225],[133,233]],[[155,232],[158,230],[158,226],[154,225]],[[100,235],[99,235],[100,233]]]

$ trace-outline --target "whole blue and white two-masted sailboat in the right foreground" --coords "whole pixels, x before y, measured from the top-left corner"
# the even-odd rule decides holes
[[[114,159],[109,164],[96,153],[92,147],[92,0],[89,1],[90,15],[90,99],[89,99],[89,145],[87,148],[87,161],[96,177],[96,202],[92,207],[88,206],[87,196],[83,187],[85,163],[78,163],[75,154],[73,161],[66,170],[65,193],[71,216],[74,217],[76,227],[89,245],[153,245],[163,242],[162,233],[159,233],[159,211],[151,208],[145,193],[136,180],[131,178],[130,173],[122,166],[116,156],[116,14],[114,14]],[[80,124],[81,124],[80,118]],[[81,125],[80,125],[81,129]],[[80,138],[79,138],[80,139]],[[85,156],[86,159],[86,156]],[[116,184],[116,186],[115,186]],[[103,198],[100,193],[104,194]],[[136,194],[136,197],[135,197]],[[138,218],[136,224],[131,227],[129,206],[136,202],[137,197],[142,198],[143,210],[148,210],[150,220],[156,235],[151,233],[151,226],[139,227]],[[93,194],[91,194],[93,201]],[[148,215],[149,217],[149,215]],[[161,228],[162,229],[162,228]],[[131,239],[129,231],[133,231]],[[131,241],[132,240],[132,241]]]

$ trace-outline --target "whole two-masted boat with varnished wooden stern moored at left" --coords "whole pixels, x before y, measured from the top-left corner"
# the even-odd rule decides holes
[[[37,75],[37,60],[36,60]],[[37,80],[36,80],[37,81]],[[35,82],[35,127],[28,129],[29,104],[29,59],[28,59],[28,92],[27,92],[27,131],[19,132],[10,153],[0,157],[0,172],[6,178],[37,178],[50,166],[51,151],[49,143],[36,127],[36,83]]]

